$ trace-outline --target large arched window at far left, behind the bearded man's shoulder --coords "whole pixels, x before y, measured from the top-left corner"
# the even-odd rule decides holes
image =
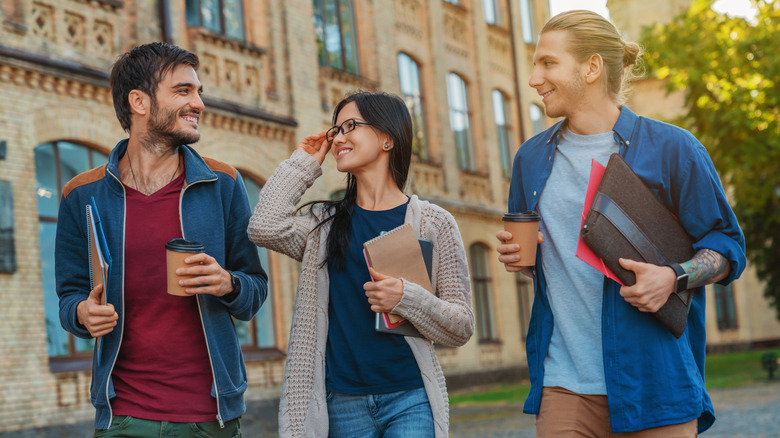
[[[41,282],[50,357],[89,357],[94,340],[77,338],[60,324],[59,298],[54,279],[54,240],[62,187],[71,178],[108,160],[106,154],[67,141],[43,143],[35,148],[35,194],[38,200],[38,241]]]

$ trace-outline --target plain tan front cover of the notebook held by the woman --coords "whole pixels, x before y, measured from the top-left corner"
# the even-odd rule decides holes
[[[433,293],[433,286],[425,267],[420,242],[411,224],[404,224],[363,244],[369,266],[375,271],[419,284]],[[401,321],[398,315],[388,314],[390,322]]]

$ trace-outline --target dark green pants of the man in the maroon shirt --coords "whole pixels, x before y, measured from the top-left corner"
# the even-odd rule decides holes
[[[95,438],[240,438],[241,424],[238,418],[225,423],[219,422],[174,423],[171,421],[143,420],[125,415],[115,415],[111,428],[96,430]]]

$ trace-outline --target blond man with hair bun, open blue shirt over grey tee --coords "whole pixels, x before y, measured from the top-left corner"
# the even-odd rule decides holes
[[[509,211],[542,216],[533,270],[507,263],[517,245],[496,237],[507,271],[533,277],[527,338],[541,437],[694,437],[715,421],[704,387],[704,285],[745,267],[745,240],[705,148],[689,132],[638,117],[623,101],[640,55],[598,14],[570,11],[542,29],[529,85],[564,119],[515,157]],[[685,227],[697,251],[676,266],[621,259],[637,282],[621,287],[576,258],[592,159],[619,153]],[[675,290],[693,289],[685,333],[651,315]]]

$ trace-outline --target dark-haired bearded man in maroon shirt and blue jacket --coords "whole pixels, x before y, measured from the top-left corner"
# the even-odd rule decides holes
[[[60,319],[75,336],[102,337],[91,385],[101,437],[240,436],[247,377],[232,318],[257,313],[267,277],[246,235],[241,176],[188,146],[204,109],[197,67],[194,53],[163,43],[123,54],[111,90],[129,138],[63,189]],[[91,198],[112,257],[105,291],[90,288]],[[205,248],[175,271],[186,297],[166,293],[173,238]]]

